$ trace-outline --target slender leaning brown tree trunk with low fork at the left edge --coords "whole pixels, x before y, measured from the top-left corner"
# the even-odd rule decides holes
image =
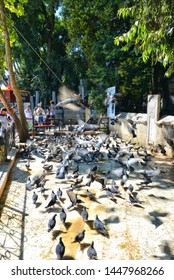
[[[0,0],[0,19],[4,34],[4,41],[5,41],[5,58],[6,58],[6,65],[10,76],[11,86],[13,88],[14,95],[16,97],[19,117],[16,115],[16,113],[12,110],[10,107],[8,101],[6,98],[2,97],[2,91],[1,91],[1,99],[3,100],[4,106],[7,108],[8,112],[11,114],[11,116],[14,119],[16,129],[19,135],[20,142],[26,142],[26,140],[29,137],[28,133],[28,125],[24,113],[24,104],[22,100],[22,95],[20,94],[19,88],[16,83],[14,71],[13,71],[13,63],[12,63],[12,56],[11,56],[11,47],[10,47],[10,38],[9,33],[7,29],[6,24],[6,17],[5,17],[5,6],[4,1]]]

